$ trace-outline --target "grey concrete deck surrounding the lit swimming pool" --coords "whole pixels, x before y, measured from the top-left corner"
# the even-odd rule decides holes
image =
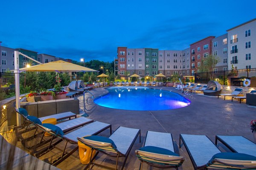
[[[253,134],[250,130],[250,121],[255,119],[256,108],[241,104],[235,100],[231,102],[231,97],[226,100],[223,97],[208,97],[201,95],[200,92],[182,93],[173,87],[150,87],[173,91],[181,94],[191,101],[191,104],[184,108],[165,110],[165,111],[126,111],[119,109],[105,108],[95,105],[92,102],[91,95],[87,94],[88,103],[86,104],[87,118],[94,121],[105,122],[112,125],[112,130],[116,130],[119,126],[137,128],[141,130],[141,143],[137,139],[131,149],[131,153],[125,164],[125,170],[138,170],[140,161],[135,155],[135,150],[142,147],[147,130],[172,133],[175,142],[175,152],[185,158],[180,170],[192,170],[193,166],[189,159],[184,146],[180,149],[179,134],[207,135],[212,142],[215,141],[215,135],[227,136],[244,136],[253,141]],[[108,93],[104,88],[96,88],[91,91],[95,97]],[[83,108],[83,96],[79,97],[80,108]],[[132,107],[132,106],[131,106]],[[102,136],[109,136],[108,130],[101,133]],[[218,148],[222,151],[227,150],[223,145],[218,144]],[[228,151],[228,150],[227,150]],[[112,160],[112,161],[111,161]],[[97,163],[114,166],[114,158],[102,155],[101,153],[96,159]],[[122,161],[122,159],[119,159]],[[85,165],[80,163],[78,151],[73,153],[65,161],[57,166],[63,170],[83,169]],[[93,169],[103,169],[93,167]],[[147,165],[143,165],[143,169],[148,169]],[[150,168],[157,169],[157,168]]]

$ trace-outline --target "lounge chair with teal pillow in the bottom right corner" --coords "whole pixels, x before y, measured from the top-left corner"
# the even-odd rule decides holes
[[[207,136],[180,134],[180,140],[182,140],[195,170],[256,168],[255,156],[244,153],[221,153]]]

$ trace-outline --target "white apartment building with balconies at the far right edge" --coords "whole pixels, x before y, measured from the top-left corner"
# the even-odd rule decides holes
[[[227,30],[228,69],[256,68],[256,18]]]

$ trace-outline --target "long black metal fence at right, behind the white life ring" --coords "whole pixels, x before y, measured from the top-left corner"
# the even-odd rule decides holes
[[[250,80],[250,86],[256,88],[256,68],[213,71],[195,74],[195,82],[207,84],[210,80],[219,82],[221,85],[244,86],[245,79]]]

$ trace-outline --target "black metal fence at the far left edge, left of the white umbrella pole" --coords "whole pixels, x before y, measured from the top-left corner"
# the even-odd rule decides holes
[[[15,78],[14,73],[1,73],[0,72],[0,93],[15,92]]]

